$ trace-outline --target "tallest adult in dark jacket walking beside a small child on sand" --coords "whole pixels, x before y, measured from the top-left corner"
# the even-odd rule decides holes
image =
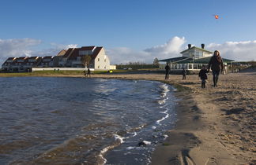
[[[210,68],[213,72],[213,86],[215,87],[218,83],[220,71],[223,72],[223,61],[218,50],[214,51],[213,57],[211,57],[211,60],[209,61],[208,71]]]

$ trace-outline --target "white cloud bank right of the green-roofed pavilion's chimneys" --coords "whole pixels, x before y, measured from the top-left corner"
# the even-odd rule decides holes
[[[256,61],[256,40],[243,42],[210,43],[207,49],[220,50],[220,56],[235,61]]]

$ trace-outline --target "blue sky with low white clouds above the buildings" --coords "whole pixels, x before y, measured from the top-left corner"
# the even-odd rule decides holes
[[[256,61],[254,0],[0,2],[0,64],[81,46],[104,46],[112,64],[151,64],[155,57],[179,57],[189,43]]]

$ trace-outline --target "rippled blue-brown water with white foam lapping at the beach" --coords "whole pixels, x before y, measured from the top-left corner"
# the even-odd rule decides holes
[[[0,164],[147,164],[175,123],[174,89],[159,82],[13,77],[0,86]]]

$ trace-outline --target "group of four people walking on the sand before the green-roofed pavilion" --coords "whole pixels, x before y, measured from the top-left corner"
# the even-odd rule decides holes
[[[201,79],[201,88],[205,88],[205,83],[207,78],[207,73],[209,73],[209,70],[212,70],[213,72],[213,87],[217,86],[218,79],[220,72],[223,72],[224,65],[223,65],[223,60],[220,57],[220,51],[215,50],[213,53],[213,57],[211,57],[208,67],[206,68],[205,65],[202,66],[198,76]],[[167,64],[165,66],[165,79],[169,79],[169,72],[171,68]],[[186,70],[183,68],[183,79],[186,79]]]

